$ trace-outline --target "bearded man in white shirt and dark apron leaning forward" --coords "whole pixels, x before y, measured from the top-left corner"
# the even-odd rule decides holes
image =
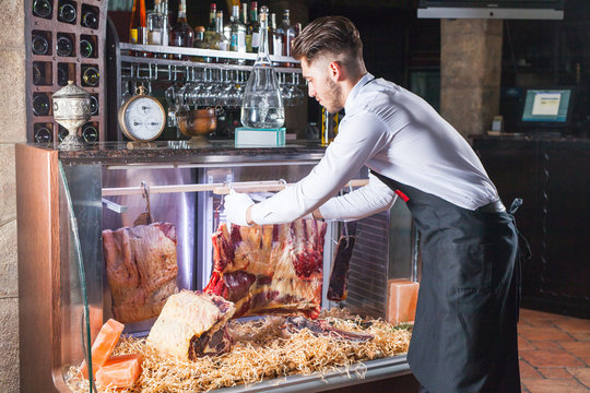
[[[314,21],[292,52],[309,96],[330,112],[345,110],[339,134],[307,177],[274,196],[255,204],[231,193],[227,219],[351,221],[391,207],[400,195],[422,235],[408,355],[421,391],[520,392],[517,233],[475,153],[422,98],[366,71],[347,19]],[[369,183],[334,196],[365,165]]]

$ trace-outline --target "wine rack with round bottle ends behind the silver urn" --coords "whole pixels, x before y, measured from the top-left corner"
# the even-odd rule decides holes
[[[91,119],[79,135],[106,135],[105,41],[107,0],[25,0],[26,118],[28,142],[60,142],[51,96],[73,81],[91,94]]]

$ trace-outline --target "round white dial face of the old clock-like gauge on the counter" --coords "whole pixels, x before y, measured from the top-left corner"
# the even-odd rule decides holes
[[[160,135],[166,122],[164,109],[154,98],[139,97],[129,103],[123,126],[132,139],[151,141]]]

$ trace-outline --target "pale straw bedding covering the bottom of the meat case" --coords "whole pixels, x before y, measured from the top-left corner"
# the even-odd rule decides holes
[[[411,325],[392,326],[381,320],[351,317],[344,310],[323,311],[334,327],[369,333],[375,336],[364,343],[352,343],[335,337],[315,337],[303,330],[288,338],[281,336],[281,317],[260,320],[233,320],[228,324],[235,340],[233,349],[217,357],[204,357],[196,361],[181,361],[161,355],[145,345],[144,338],[121,336],[115,355],[142,354],[143,371],[133,389],[99,392],[200,392],[237,384],[260,382],[290,374],[326,373],[338,367],[346,369],[365,360],[396,356],[408,350]],[[355,367],[355,371],[359,372]],[[361,368],[362,370],[362,368]],[[71,376],[76,374],[72,367]],[[68,381],[74,392],[87,392],[87,381],[71,378]],[[84,386],[85,385],[85,386]]]

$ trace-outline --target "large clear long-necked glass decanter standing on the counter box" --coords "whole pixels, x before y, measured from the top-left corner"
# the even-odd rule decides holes
[[[285,108],[276,73],[269,57],[268,8],[260,10],[260,46],[241,102],[241,123],[275,129],[285,122]]]

